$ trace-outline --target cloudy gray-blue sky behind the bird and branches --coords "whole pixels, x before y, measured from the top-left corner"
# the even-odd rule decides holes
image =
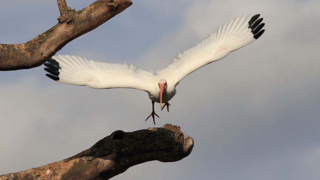
[[[93,1],[67,3],[80,10]],[[0,72],[0,174],[66,159],[119,129],[171,123],[193,137],[188,157],[113,179],[318,180],[319,9],[318,0],[133,0],[57,54],[157,70],[237,16],[260,13],[266,31],[184,78],[169,112],[155,104],[156,126],[144,121],[151,112],[144,91],[57,83],[44,66]],[[59,16],[54,0],[4,1],[0,12],[2,44],[33,39]]]

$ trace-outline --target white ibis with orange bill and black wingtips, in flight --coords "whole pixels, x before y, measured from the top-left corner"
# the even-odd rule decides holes
[[[44,69],[51,73],[46,74],[49,78],[61,83],[97,89],[133,88],[146,91],[152,101],[152,112],[148,118],[152,116],[155,123],[155,115],[159,116],[155,113],[154,103],[160,103],[162,109],[167,106],[169,112],[169,101],[176,94],[176,86],[183,78],[262,35],[264,23],[261,23],[263,18],[258,19],[259,16],[244,15],[223,24],[196,46],[179,53],[164,69],[157,70],[157,75],[133,64],[88,61],[70,55],[52,56],[44,64],[48,68]],[[163,107],[162,103],[165,103]]]

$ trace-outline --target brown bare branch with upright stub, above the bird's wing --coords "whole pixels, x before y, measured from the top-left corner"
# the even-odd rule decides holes
[[[36,38],[22,44],[0,44],[0,70],[30,69],[42,65],[73,39],[97,28],[124,11],[130,0],[98,0],[80,11],[57,0],[58,23]]]

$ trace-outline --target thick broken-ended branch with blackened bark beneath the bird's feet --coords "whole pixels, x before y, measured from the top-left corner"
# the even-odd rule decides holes
[[[0,180],[110,179],[147,161],[174,162],[188,156],[193,139],[180,127],[166,124],[134,132],[121,130],[68,159],[0,176]]]

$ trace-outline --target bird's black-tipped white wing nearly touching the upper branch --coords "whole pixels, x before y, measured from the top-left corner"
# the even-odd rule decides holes
[[[49,78],[61,83],[89,86],[97,89],[133,88],[149,91],[157,80],[153,73],[128,63],[107,63],[78,56],[58,55],[44,63]]]

